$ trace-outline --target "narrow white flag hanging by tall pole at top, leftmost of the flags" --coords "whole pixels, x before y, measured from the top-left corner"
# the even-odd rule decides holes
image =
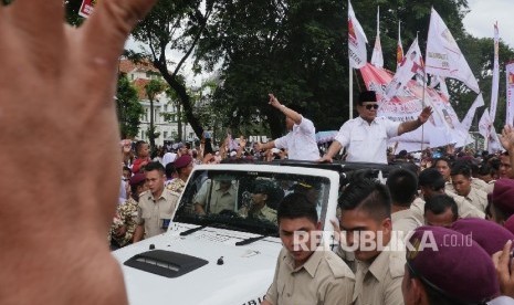
[[[366,65],[366,43],[368,43],[368,39],[355,18],[354,8],[348,1],[348,57],[352,67],[360,69]]]

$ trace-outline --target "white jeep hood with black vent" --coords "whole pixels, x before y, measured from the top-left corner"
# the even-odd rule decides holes
[[[183,229],[189,228],[193,227]],[[212,228],[187,236],[168,231],[113,254],[122,264],[129,304],[160,304],[162,301],[166,304],[245,304],[251,301],[259,304],[265,294],[262,287],[268,287],[273,280],[281,246],[277,238],[235,246],[235,242],[252,236],[256,235]],[[170,254],[168,259],[175,266],[198,261],[207,261],[207,264],[197,264],[186,274],[176,274],[177,277],[125,265],[135,255],[155,251]],[[149,259],[140,263],[145,264],[162,265],[162,262]]]

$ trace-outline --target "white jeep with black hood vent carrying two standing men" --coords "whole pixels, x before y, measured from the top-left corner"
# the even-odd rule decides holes
[[[195,167],[167,232],[113,252],[122,264],[129,303],[260,304],[282,244],[276,222],[248,213],[253,204],[250,194],[255,185],[272,186],[266,206],[276,211],[284,196],[304,192],[316,202],[324,231],[332,232],[329,220],[336,214],[344,170],[315,167]],[[216,209],[219,180],[229,181],[232,188],[233,203],[223,210]],[[204,214],[196,210],[199,197],[206,202]]]

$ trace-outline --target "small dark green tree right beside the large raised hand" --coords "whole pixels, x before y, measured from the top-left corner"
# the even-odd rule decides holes
[[[122,73],[118,77],[116,112],[122,138],[137,136],[144,108],[139,103],[137,90],[130,84],[125,73]]]

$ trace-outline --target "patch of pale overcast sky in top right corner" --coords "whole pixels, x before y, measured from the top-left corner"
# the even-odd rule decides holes
[[[493,24],[497,21],[500,39],[514,48],[514,1],[468,0],[470,12],[464,18],[466,31],[476,38],[493,38]]]

